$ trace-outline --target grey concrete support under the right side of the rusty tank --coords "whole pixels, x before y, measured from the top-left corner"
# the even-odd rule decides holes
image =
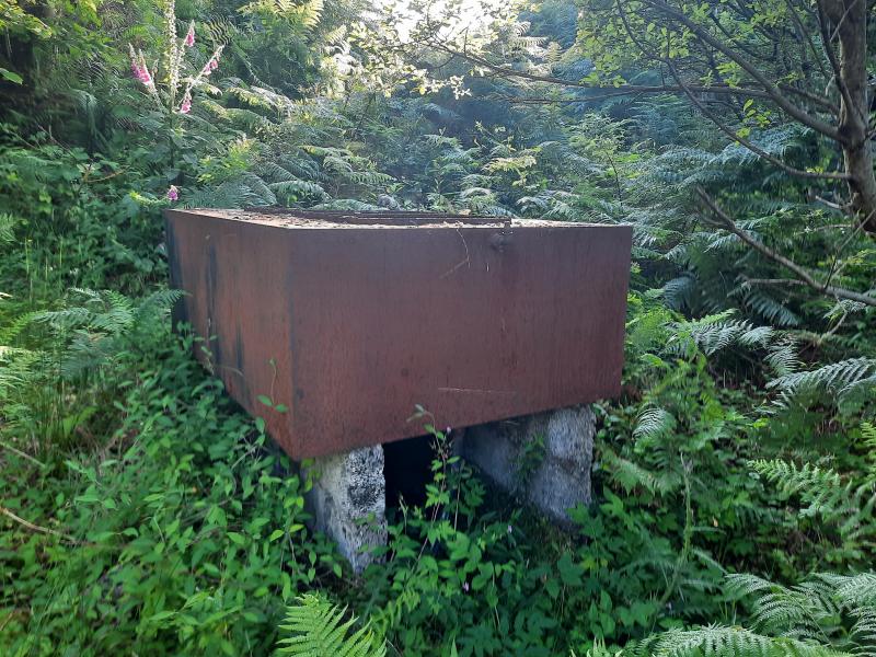
[[[596,418],[588,406],[560,408],[465,429],[459,453],[503,488],[561,525],[590,503]]]

